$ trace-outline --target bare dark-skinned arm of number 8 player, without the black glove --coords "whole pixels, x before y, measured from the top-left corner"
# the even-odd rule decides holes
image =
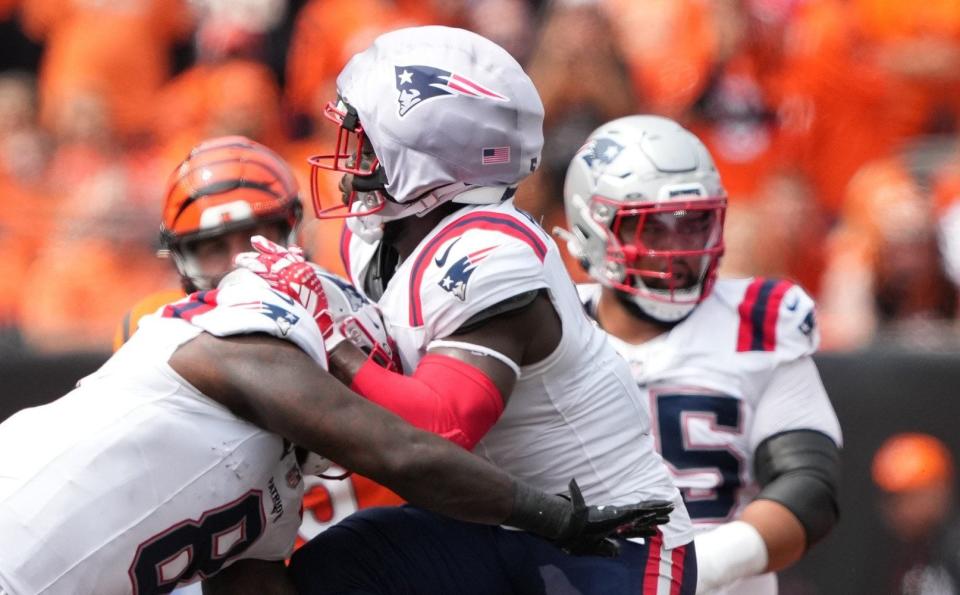
[[[506,473],[350,392],[289,342],[203,333],[169,363],[237,416],[413,504],[487,524],[502,523],[512,512],[515,483]]]

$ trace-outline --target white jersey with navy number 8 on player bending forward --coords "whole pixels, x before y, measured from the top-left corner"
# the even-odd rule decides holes
[[[290,554],[294,449],[167,363],[203,331],[268,333],[326,365],[310,315],[249,271],[145,317],[69,394],[0,424],[0,591],[169,593],[237,559]]]

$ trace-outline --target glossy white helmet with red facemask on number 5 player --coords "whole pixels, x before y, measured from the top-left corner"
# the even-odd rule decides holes
[[[710,294],[726,191],[690,131],[659,116],[604,124],[571,161],[563,198],[570,253],[646,315],[676,322]]]

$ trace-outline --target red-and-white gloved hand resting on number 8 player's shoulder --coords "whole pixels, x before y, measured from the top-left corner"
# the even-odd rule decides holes
[[[238,254],[234,264],[253,271],[275,291],[303,306],[317,322],[327,353],[333,351],[344,337],[330,314],[317,269],[303,257],[303,250],[298,246],[284,248],[263,236],[253,236],[250,245],[255,252]]]

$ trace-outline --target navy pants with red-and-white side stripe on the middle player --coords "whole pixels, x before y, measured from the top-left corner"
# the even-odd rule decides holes
[[[293,555],[301,595],[694,595],[693,543],[621,541],[617,558],[570,556],[521,531],[412,506],[361,510]]]

